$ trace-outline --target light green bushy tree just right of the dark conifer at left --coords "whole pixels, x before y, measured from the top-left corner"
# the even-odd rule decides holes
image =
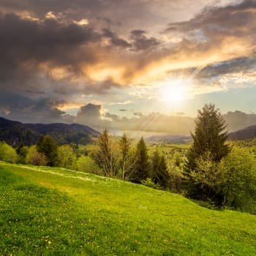
[[[58,148],[59,167],[76,169],[76,155],[72,146],[64,145]]]

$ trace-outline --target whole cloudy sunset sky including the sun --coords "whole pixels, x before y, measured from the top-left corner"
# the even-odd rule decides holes
[[[1,0],[0,116],[189,135],[256,124],[256,0]]]

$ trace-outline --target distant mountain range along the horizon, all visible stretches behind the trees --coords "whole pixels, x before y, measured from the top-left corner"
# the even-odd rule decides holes
[[[0,140],[4,140],[12,146],[18,146],[20,143],[25,146],[34,145],[42,135],[47,134],[52,136],[59,145],[69,143],[85,145],[90,143],[92,138],[97,138],[100,135],[95,129],[82,124],[23,124],[0,117]],[[256,125],[230,132],[228,138],[230,140],[256,138]],[[192,138],[181,135],[155,135],[146,140],[185,144]]]

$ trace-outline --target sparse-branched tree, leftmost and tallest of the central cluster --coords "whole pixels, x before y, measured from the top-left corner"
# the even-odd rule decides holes
[[[108,130],[99,136],[98,150],[91,154],[91,157],[102,168],[104,176],[116,176],[118,172],[117,146],[110,141]]]

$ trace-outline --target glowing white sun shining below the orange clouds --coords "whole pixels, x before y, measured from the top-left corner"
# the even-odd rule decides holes
[[[159,97],[165,102],[178,104],[187,97],[187,80],[169,80],[159,86]]]

